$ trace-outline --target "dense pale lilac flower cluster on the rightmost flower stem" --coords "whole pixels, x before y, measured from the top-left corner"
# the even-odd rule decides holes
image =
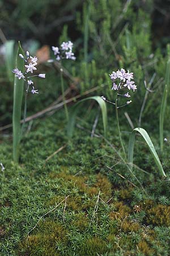
[[[121,70],[118,69],[116,72],[112,72],[111,80],[113,81],[112,90],[120,90],[124,87],[127,87],[129,90],[133,90],[133,92],[137,89],[137,86],[134,84],[134,81],[131,81],[133,79],[133,73],[129,73],[125,71],[124,68],[121,68]],[[130,97],[128,94],[124,94],[125,97]]]

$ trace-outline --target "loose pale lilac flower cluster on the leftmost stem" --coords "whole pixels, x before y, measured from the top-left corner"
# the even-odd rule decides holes
[[[15,77],[18,77],[18,79],[23,79],[25,81],[25,83],[27,84],[27,93],[29,90],[29,86],[32,86],[32,90],[30,91],[32,94],[38,93],[37,90],[35,90],[34,86],[33,86],[33,81],[31,80],[32,77],[38,76],[41,77],[43,79],[45,79],[45,74],[39,74],[39,75],[31,75],[29,76],[29,72],[32,74],[34,71],[37,70],[37,68],[35,67],[37,65],[37,57],[32,57],[31,55],[29,55],[29,52],[26,52],[26,57],[24,57],[22,54],[19,54],[19,57],[21,59],[23,59],[25,61],[25,72],[22,73],[22,71],[20,71],[18,68],[15,68],[12,70],[13,73],[15,73]]]

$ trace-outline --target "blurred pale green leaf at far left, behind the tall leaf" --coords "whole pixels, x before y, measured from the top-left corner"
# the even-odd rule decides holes
[[[14,82],[14,75],[11,70],[14,68],[14,40],[7,40],[5,43],[5,60],[6,60],[6,69],[7,76],[10,82]]]

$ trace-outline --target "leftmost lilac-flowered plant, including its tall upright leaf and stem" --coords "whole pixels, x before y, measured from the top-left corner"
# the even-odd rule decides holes
[[[41,77],[45,79],[45,74],[33,75],[33,72],[37,70],[37,57],[32,57],[27,51],[24,55],[23,49],[19,43],[18,52],[16,55],[16,67],[12,70],[15,74],[14,80],[14,107],[13,107],[13,158],[15,162],[19,159],[19,144],[23,136],[23,130],[25,125],[25,119],[27,117],[27,97],[28,93],[38,94],[38,90],[35,89],[33,77]],[[23,92],[25,90],[24,98],[24,116],[23,125],[20,127],[22,116],[22,101]]]

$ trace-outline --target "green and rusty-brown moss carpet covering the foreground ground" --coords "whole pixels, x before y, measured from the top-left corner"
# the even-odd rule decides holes
[[[148,174],[134,174],[145,191],[124,164],[114,166],[117,156],[104,139],[76,129],[67,141],[64,124],[63,111],[36,121],[24,138],[20,166],[11,162],[10,139],[3,139],[1,255],[168,255],[169,183],[158,173],[155,179],[154,164],[147,168],[152,160],[142,140],[137,150]]]

